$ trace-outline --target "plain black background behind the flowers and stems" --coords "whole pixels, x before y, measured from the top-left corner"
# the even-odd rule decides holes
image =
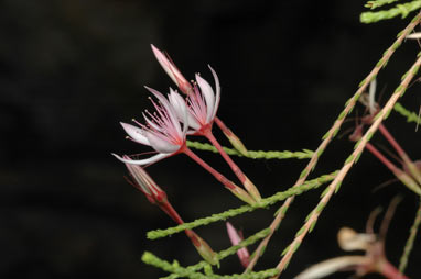
[[[364,2],[1,1],[0,277],[164,276],[141,263],[144,250],[177,258],[183,266],[197,263],[183,234],[145,238],[148,231],[173,223],[125,181],[125,166],[110,156],[150,150],[126,141],[119,122],[141,120],[150,105],[143,85],[162,92],[173,86],[150,44],[168,51],[188,79],[199,71],[212,81],[206,65],[215,68],[223,87],[218,115],[249,149],[315,149],[344,102],[409,22],[364,25],[358,20]],[[415,42],[404,44],[379,76],[384,101],[418,49]],[[420,105],[419,89],[413,86],[402,100],[412,111]],[[392,115],[386,124],[412,158],[421,157],[413,123]],[[353,125],[346,123],[339,133]],[[386,145],[380,136],[373,141]],[[352,146],[346,135],[332,143],[312,177],[339,168]],[[234,179],[218,155],[199,154]],[[306,164],[235,159],[263,196],[291,187]],[[149,171],[185,221],[240,205],[182,155]],[[387,254],[398,265],[417,198],[397,182],[374,191],[392,178],[365,153],[282,278],[344,255],[337,230],[364,231],[370,211],[400,193],[403,202],[387,239]],[[257,269],[279,261],[320,192],[295,200]],[[230,221],[248,236],[270,224],[276,208]],[[229,246],[224,223],[196,231],[215,250]],[[412,278],[420,275],[420,258],[417,243],[408,267]],[[240,271],[236,257],[219,270]]]

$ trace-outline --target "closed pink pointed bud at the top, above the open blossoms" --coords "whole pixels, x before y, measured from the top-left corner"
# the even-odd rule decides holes
[[[152,44],[151,44],[151,47],[158,62],[161,64],[162,68],[166,71],[170,78],[174,81],[174,83],[180,88],[180,90],[183,93],[188,94],[193,90],[192,85],[184,78],[184,76],[180,72],[177,67],[174,65],[174,63],[170,60],[168,55],[164,55],[160,49],[158,49]]]

